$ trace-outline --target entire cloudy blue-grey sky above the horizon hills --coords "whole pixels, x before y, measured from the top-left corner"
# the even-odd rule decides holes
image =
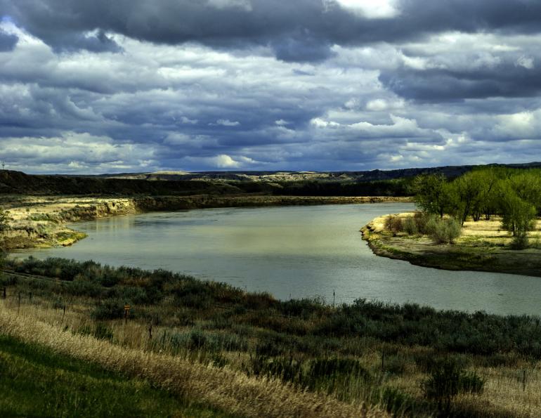
[[[541,160],[539,0],[0,0],[28,173]]]

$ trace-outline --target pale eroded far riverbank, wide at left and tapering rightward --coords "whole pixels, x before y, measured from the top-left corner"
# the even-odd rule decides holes
[[[213,207],[263,207],[308,204],[408,202],[407,197],[163,196],[163,197],[17,197],[4,200],[13,220],[3,234],[6,249],[71,245],[86,235],[67,223],[149,211]]]

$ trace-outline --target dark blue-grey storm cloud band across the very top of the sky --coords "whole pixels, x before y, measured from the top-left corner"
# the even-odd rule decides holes
[[[159,44],[268,45],[283,60],[330,56],[329,46],[402,42],[445,30],[539,32],[535,0],[402,0],[394,17],[372,19],[334,0],[4,0],[9,15],[53,48],[118,48],[103,32]],[[87,35],[98,30],[97,36]]]

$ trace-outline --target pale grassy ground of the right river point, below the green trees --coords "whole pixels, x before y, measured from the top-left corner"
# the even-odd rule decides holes
[[[407,218],[412,214],[392,216]],[[436,244],[426,235],[392,233],[385,228],[387,217],[379,216],[361,230],[363,239],[379,256],[445,270],[541,276],[541,221],[537,221],[535,230],[528,232],[530,247],[517,250],[511,248],[512,237],[501,229],[502,221],[498,216],[493,216],[490,221],[464,222],[461,237],[452,245]]]

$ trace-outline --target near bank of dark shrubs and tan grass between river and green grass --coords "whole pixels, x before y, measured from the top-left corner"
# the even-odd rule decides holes
[[[91,360],[188,407],[197,399],[216,413],[275,417],[541,414],[539,318],[277,301],[93,261],[7,260],[4,269],[9,344]]]

